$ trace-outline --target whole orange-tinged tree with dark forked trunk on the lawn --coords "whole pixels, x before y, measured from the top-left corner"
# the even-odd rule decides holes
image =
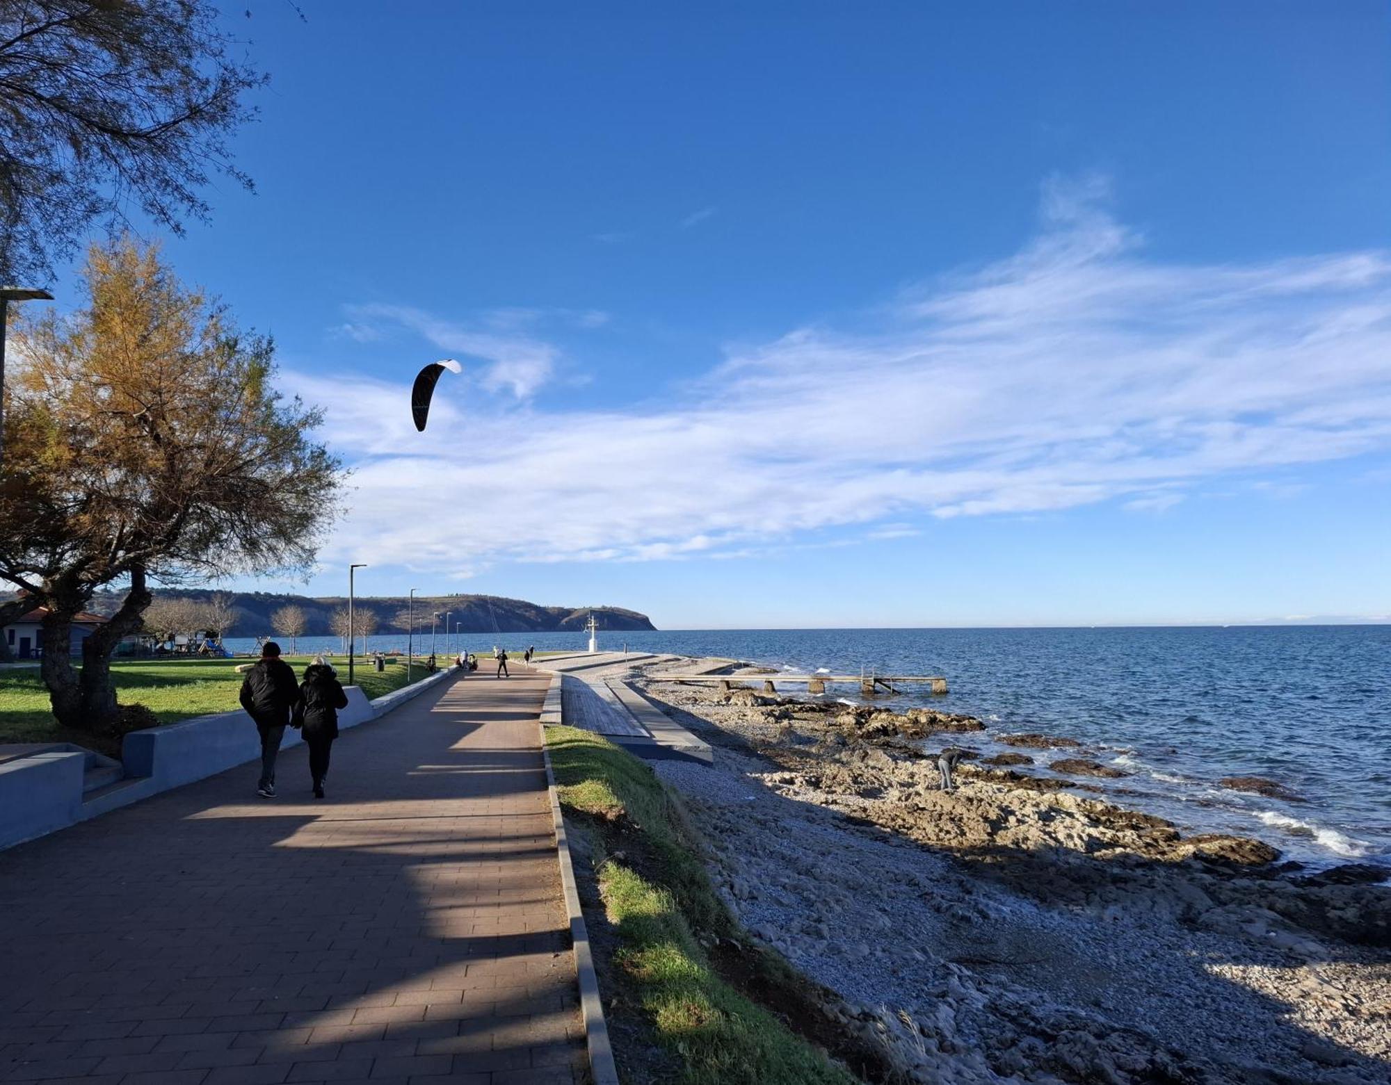
[[[50,608],[43,673],[68,726],[115,711],[108,684],[77,696],[68,662],[71,616],[95,590],[129,586],[83,641],[83,687],[139,629],[147,577],[306,569],[341,490],[313,440],[320,413],[273,385],[268,338],[129,238],[92,246],[83,278],[85,309],[15,328],[0,474],[0,580]]]

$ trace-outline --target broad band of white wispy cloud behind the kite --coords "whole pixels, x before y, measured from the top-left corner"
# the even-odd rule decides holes
[[[1102,181],[1053,184],[1018,253],[875,312],[868,331],[801,328],[730,352],[643,412],[490,413],[466,383],[442,381],[430,431],[416,434],[405,374],[291,380],[357,460],[341,537],[437,569],[460,551],[469,562],[721,556],[926,515],[1100,501],[1153,512],[1207,480],[1391,448],[1383,252],[1146,259],[1107,213]],[[519,395],[555,362],[524,331],[392,319],[490,360],[490,380]]]

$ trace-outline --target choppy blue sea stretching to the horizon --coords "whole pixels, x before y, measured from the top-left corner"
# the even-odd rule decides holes
[[[495,644],[579,651],[586,640],[579,632],[470,633],[434,644],[441,655],[467,648],[481,657]],[[430,634],[416,637],[416,651],[430,644]],[[296,647],[341,643],[300,637]],[[371,638],[374,650],[405,647],[403,636]],[[798,673],[943,675],[947,694],[906,687],[878,702],[979,716],[985,733],[953,740],[983,754],[1006,748],[992,734],[1077,739],[1085,755],[1128,773],[1086,783],[1188,832],[1255,836],[1314,868],[1391,864],[1391,625],[601,632],[600,647]],[[253,651],[255,641],[230,637],[228,648]],[[860,701],[858,686],[825,696]],[[1022,753],[1045,773],[1049,760],[1071,755]],[[1225,776],[1263,776],[1301,801],[1232,791],[1217,783]]]

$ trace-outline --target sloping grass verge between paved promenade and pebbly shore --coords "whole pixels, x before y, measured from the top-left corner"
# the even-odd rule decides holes
[[[545,741],[561,805],[587,836],[604,918],[616,936],[601,979],[605,1000],[619,1015],[636,1008],[645,1025],[647,1035],[630,1045],[627,1029],[613,1029],[619,1072],[643,1079],[657,1071],[664,1081],[701,1085],[860,1081],[808,1042],[837,1046],[818,1035],[825,1018],[811,985],[733,919],[711,886],[694,830],[657,775],[587,730],[547,728]],[[644,1059],[633,1050],[641,1040],[658,1043],[668,1066],[634,1066]]]

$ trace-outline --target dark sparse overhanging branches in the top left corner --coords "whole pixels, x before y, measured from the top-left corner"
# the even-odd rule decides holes
[[[46,280],[134,209],[206,220],[213,174],[250,186],[231,134],[266,77],[210,0],[0,0],[0,280]]]

